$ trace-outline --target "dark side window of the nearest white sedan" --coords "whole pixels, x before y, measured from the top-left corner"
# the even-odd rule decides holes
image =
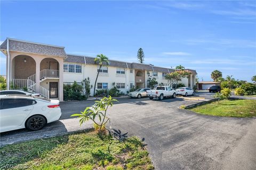
[[[36,104],[35,100],[30,99],[2,99],[1,100],[1,109],[16,108],[16,107],[25,107],[29,105]]]

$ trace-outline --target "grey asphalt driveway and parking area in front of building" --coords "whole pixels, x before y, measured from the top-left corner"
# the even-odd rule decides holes
[[[197,102],[183,98],[119,99],[119,103],[109,109],[110,126],[145,138],[156,169],[255,169],[256,118],[214,117],[178,108]],[[77,119],[69,117],[91,104],[93,101],[61,103],[61,121],[38,132],[3,133],[1,142],[49,134],[54,129],[72,131],[91,127],[90,122],[80,127]]]

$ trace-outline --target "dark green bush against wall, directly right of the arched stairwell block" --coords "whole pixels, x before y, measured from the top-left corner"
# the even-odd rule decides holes
[[[83,87],[74,81],[73,84],[64,84],[63,98],[67,100],[85,100],[86,96],[83,95]]]

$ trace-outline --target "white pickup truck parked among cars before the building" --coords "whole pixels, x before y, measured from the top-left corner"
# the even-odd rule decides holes
[[[164,97],[176,97],[176,91],[169,86],[157,86],[156,90],[147,90],[147,96],[150,100],[154,97],[163,100]]]

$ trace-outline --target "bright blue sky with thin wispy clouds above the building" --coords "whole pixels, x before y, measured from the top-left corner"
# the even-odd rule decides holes
[[[256,74],[255,1],[1,1],[6,37],[127,62],[141,47],[145,63],[181,64],[204,81],[215,69],[247,81]]]

